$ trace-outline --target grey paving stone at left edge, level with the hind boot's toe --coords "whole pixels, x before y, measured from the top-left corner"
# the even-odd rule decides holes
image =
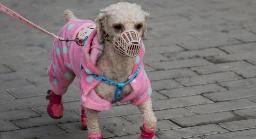
[[[31,109],[20,109],[13,111],[1,112],[0,117],[1,120],[16,120],[16,119],[24,119],[24,118],[32,118],[40,116],[36,112]]]

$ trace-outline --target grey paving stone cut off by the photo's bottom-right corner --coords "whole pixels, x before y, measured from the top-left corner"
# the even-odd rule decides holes
[[[256,130],[250,129],[250,130],[203,136],[202,138],[203,139],[255,139],[255,136],[256,136]]]

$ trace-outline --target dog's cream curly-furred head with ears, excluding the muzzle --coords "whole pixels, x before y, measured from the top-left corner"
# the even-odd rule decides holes
[[[120,36],[128,29],[134,29],[141,37],[145,37],[148,16],[149,13],[135,3],[119,2],[101,9],[95,20],[98,28],[98,42],[102,43],[107,34],[111,37]]]

